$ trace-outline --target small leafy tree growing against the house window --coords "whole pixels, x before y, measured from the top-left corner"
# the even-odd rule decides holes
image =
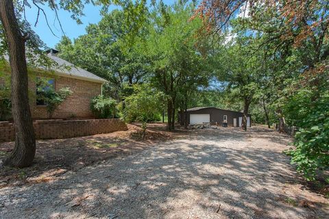
[[[42,90],[43,89],[43,90]],[[53,112],[58,108],[58,106],[66,99],[67,96],[71,95],[72,91],[70,88],[60,88],[56,92],[53,88],[44,89],[42,87],[38,88],[38,100],[44,101],[49,118],[53,117]]]

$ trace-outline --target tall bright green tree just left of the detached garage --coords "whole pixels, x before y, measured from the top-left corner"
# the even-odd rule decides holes
[[[201,23],[188,21],[192,13],[193,6],[184,4],[159,5],[151,13],[145,54],[150,60],[151,83],[167,96],[169,130],[175,128],[178,105],[181,110],[187,106],[186,95],[208,83],[206,54],[197,47],[199,39],[195,38]]]

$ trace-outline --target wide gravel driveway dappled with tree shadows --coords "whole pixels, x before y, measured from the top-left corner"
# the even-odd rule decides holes
[[[328,199],[299,183],[289,138],[253,127],[184,138],[0,189],[0,218],[326,218]]]

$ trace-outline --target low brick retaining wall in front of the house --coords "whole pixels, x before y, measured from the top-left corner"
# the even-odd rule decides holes
[[[119,118],[90,120],[36,120],[33,123],[36,139],[74,138],[99,133],[127,130]],[[0,142],[14,140],[14,125],[0,122]]]

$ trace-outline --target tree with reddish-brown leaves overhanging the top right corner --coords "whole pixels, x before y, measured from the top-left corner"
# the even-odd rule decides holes
[[[202,17],[203,29],[210,35],[224,34],[232,28],[236,18],[240,18],[241,31],[262,36],[254,51],[262,51],[266,62],[272,62],[273,70],[267,77],[274,85],[273,93],[266,96],[275,102],[281,131],[284,126],[282,107],[287,96],[284,81],[297,79],[300,73],[315,73],[317,70],[312,70],[315,66],[319,69],[326,66],[328,10],[327,1],[204,0],[195,17]]]

